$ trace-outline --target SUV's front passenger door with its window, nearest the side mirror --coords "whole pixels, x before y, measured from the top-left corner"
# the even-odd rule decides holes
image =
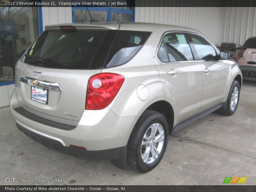
[[[218,52],[203,36],[189,33],[197,56],[197,63],[203,70],[202,111],[223,101],[226,93],[227,71],[222,62],[214,60]]]

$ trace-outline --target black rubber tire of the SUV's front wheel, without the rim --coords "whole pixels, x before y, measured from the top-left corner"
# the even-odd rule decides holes
[[[236,88],[238,91],[237,102],[236,102],[236,106],[231,108],[230,105],[231,105],[231,100],[232,100],[232,94],[234,92],[234,89],[236,89]],[[226,115],[226,116],[233,115],[236,112],[236,108],[237,108],[238,102],[239,102],[239,97],[240,97],[240,85],[239,85],[238,81],[234,80],[230,87],[229,93],[228,93],[228,99],[227,99],[225,105],[222,108],[220,108],[219,112],[222,115]]]

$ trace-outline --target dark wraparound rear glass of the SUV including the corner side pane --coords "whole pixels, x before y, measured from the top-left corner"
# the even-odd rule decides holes
[[[118,30],[46,30],[22,61],[47,68],[109,68],[130,60],[150,32]]]

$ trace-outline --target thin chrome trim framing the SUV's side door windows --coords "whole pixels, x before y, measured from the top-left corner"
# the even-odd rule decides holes
[[[199,34],[199,33],[196,33],[196,32],[191,32],[191,31],[177,31],[177,30],[175,30],[175,31],[165,31],[164,34],[161,36],[160,42],[159,42],[159,44],[158,44],[158,46],[157,46],[156,53],[155,53],[155,58],[156,58],[156,60],[157,60],[160,64],[207,61],[207,60],[171,61],[171,62],[169,62],[169,61],[168,61],[168,62],[162,62],[162,61],[160,61],[160,60],[158,59],[158,57],[157,57],[157,52],[158,52],[158,50],[159,50],[159,48],[160,48],[160,46],[161,46],[161,43],[162,43],[162,41],[163,41],[163,39],[164,39],[164,36],[165,36],[167,33],[187,33],[187,34],[195,34],[195,35],[201,36],[201,37],[203,37],[209,44],[212,45],[212,47],[213,47],[213,49],[216,51],[217,55],[220,55],[220,51],[217,49],[217,47],[216,47],[214,44],[212,44],[212,43],[210,42],[210,40],[209,40],[207,37],[205,37],[204,35],[202,35],[202,34]],[[188,40],[188,39],[187,39],[187,40]],[[188,41],[189,41],[189,40],[188,40]],[[194,44],[193,42],[191,42],[191,43]],[[191,48],[190,48],[190,50],[191,50]],[[192,50],[191,50],[191,52],[192,52]],[[168,54],[168,53],[167,53],[167,54]],[[193,52],[192,52],[192,54],[193,54]],[[194,55],[194,56],[195,56],[195,55]],[[169,56],[168,56],[168,57],[169,57]]]

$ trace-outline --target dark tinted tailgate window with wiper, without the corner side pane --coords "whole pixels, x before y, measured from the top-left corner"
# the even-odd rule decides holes
[[[27,56],[24,62],[47,68],[89,69],[107,30],[50,30],[38,37],[26,52],[42,58],[40,63]]]

